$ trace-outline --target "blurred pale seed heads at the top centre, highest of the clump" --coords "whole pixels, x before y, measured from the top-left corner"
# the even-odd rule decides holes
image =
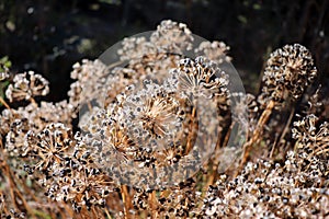
[[[183,51],[192,48],[192,33],[185,24],[163,21],[149,35],[149,38],[125,38],[122,48],[117,50],[120,59],[128,62],[126,68],[135,71],[127,76],[131,83],[138,83],[145,78],[162,82],[181,59]],[[120,85],[117,82],[115,84]]]

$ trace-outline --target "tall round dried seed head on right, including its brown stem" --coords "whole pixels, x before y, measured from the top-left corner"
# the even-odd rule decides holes
[[[260,140],[263,127],[266,125],[273,108],[282,107],[283,103],[299,100],[316,76],[317,69],[314,66],[311,54],[299,44],[286,45],[270,55],[262,79],[262,93],[258,97],[263,112],[258,119],[253,135],[245,143],[241,165],[247,162],[253,143]],[[291,124],[294,110],[295,107],[292,106],[286,127]],[[282,131],[280,140],[285,136],[286,129],[284,128]]]

